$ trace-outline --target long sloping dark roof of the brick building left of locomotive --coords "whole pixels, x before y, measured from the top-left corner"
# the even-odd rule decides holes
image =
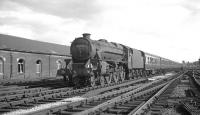
[[[55,55],[70,55],[69,46],[29,40],[5,34],[0,34],[0,49]]]

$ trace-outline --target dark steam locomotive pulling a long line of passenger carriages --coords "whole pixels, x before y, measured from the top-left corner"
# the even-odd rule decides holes
[[[105,39],[92,40],[89,33],[76,38],[72,59],[66,60],[62,75],[75,86],[123,82],[141,76],[180,70],[182,64]]]

